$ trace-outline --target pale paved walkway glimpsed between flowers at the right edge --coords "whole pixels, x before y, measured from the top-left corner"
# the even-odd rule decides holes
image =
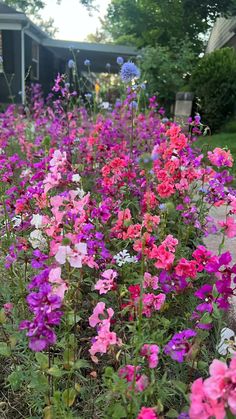
[[[215,220],[225,220],[226,207],[222,205],[220,208],[212,208],[209,215]],[[215,254],[218,254],[218,249],[221,242],[222,234],[210,235],[204,239],[205,246]],[[228,239],[226,237],[223,250],[225,252],[229,250],[233,256],[234,263],[236,263],[236,237],[233,239]],[[232,298],[231,310],[229,313],[229,325],[236,331],[236,296]]]

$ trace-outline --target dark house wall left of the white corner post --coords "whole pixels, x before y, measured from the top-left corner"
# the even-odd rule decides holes
[[[14,102],[21,102],[21,33],[20,31],[3,30],[3,66],[7,79],[11,80]],[[4,75],[0,73],[0,102],[11,102],[10,92]]]

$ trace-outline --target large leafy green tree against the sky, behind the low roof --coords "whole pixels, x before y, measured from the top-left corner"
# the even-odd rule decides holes
[[[117,43],[169,45],[188,37],[196,52],[219,15],[236,13],[236,0],[111,0],[105,28]]]

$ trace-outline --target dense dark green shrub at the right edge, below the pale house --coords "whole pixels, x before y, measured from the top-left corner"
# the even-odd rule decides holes
[[[223,48],[205,55],[191,77],[203,122],[213,131],[232,117],[236,101],[236,52]]]

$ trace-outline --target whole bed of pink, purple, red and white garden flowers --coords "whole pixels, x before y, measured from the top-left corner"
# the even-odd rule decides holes
[[[232,156],[196,146],[199,116],[186,132],[156,97],[139,110],[122,71],[110,112],[58,76],[0,116],[1,417],[236,417]]]

